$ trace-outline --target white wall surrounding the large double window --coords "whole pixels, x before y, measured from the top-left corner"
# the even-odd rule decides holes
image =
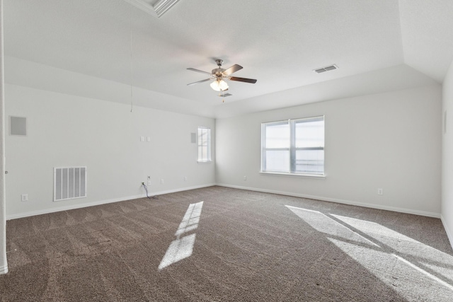
[[[438,217],[441,104],[434,85],[218,119],[217,183]],[[260,123],[317,115],[326,178],[260,174]]]

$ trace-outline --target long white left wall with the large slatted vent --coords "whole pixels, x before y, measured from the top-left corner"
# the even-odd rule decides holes
[[[147,175],[150,194],[215,182],[214,163],[198,164],[190,142],[198,126],[214,140],[207,117],[6,84],[8,115],[27,117],[28,135],[6,137],[7,219],[144,196]],[[88,197],[53,202],[53,168],[74,165],[87,166]]]

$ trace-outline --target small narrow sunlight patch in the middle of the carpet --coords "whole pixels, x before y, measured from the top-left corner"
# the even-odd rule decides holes
[[[184,236],[183,238],[180,238],[180,236],[183,235],[183,233],[188,233],[198,227],[202,207],[203,202],[197,202],[196,204],[189,205],[183,220],[179,224],[179,228],[175,233],[176,240],[173,240],[168,247],[164,258],[162,258],[161,264],[159,265],[159,270],[168,267],[168,265],[173,265],[173,263],[192,255],[196,234],[193,233],[188,236]]]

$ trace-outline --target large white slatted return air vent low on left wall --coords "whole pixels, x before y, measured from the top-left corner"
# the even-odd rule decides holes
[[[54,168],[54,202],[86,197],[86,167]]]

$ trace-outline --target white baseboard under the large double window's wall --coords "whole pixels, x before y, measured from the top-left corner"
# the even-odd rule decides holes
[[[241,189],[241,190],[251,190],[251,191],[256,191],[256,192],[273,193],[273,194],[287,195],[287,196],[293,196],[293,197],[318,199],[318,200],[322,200],[323,202],[337,202],[339,204],[350,204],[352,206],[367,207],[367,208],[372,208],[372,209],[382,209],[382,210],[386,210],[386,211],[396,211],[396,212],[401,212],[401,213],[406,213],[406,214],[415,214],[415,215],[420,215],[420,216],[440,218],[439,213],[432,213],[432,212],[428,212],[428,211],[418,211],[418,210],[413,210],[413,209],[387,207],[387,206],[382,206],[380,204],[365,204],[362,202],[352,202],[350,200],[344,200],[344,199],[336,199],[336,198],[314,196],[314,195],[307,195],[307,194],[297,194],[297,193],[292,193],[292,192],[282,192],[282,191],[275,191],[275,190],[265,190],[265,189],[259,189],[256,187],[242,187],[239,185],[226,185],[226,184],[222,184],[222,183],[217,183],[216,185],[219,185],[221,187],[233,187],[235,189]],[[450,242],[451,242],[451,240],[450,240]]]

